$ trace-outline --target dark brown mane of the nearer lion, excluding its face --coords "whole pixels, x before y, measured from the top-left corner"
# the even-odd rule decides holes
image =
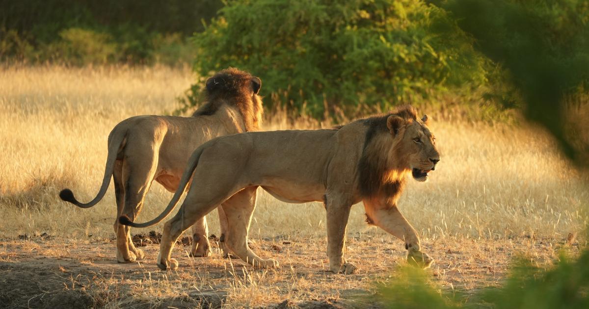
[[[391,134],[386,126],[386,119],[391,115],[406,120],[418,118],[416,109],[405,105],[389,114],[376,115],[363,120],[363,125],[368,129],[364,139],[362,157],[358,162],[358,189],[362,197],[375,197],[383,194],[386,197],[395,198],[403,190],[404,178],[390,179],[389,173],[391,171],[387,170],[386,157],[383,157],[383,154],[387,152],[386,145],[379,145],[378,139],[375,138],[379,134]]]

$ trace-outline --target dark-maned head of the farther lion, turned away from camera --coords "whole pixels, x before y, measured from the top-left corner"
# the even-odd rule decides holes
[[[246,125],[246,131],[256,131],[262,122],[262,98],[258,95],[262,88],[260,78],[236,68],[217,72],[207,79],[202,96],[204,104],[193,116],[212,115],[223,104],[239,109]]]

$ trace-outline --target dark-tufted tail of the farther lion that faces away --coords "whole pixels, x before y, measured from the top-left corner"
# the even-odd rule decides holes
[[[107,155],[107,163],[106,167],[104,168],[104,178],[102,178],[102,185],[100,187],[100,191],[98,191],[98,195],[87,203],[82,203],[76,200],[74,197],[74,192],[70,189],[64,189],[59,192],[59,198],[66,202],[71,202],[72,204],[76,205],[80,208],[90,208],[96,204],[104,197],[104,194],[108,190],[108,185],[110,184],[110,178],[112,176],[112,171],[114,170],[114,162],[117,160],[117,153],[121,148],[121,144],[123,144],[125,136],[127,135],[126,131],[121,132],[121,130],[112,130],[112,135],[108,139],[108,155]]]

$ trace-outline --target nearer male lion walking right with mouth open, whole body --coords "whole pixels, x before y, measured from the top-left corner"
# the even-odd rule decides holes
[[[338,129],[310,131],[248,132],[206,142],[196,149],[178,190],[164,212],[154,220],[135,224],[120,217],[122,224],[147,227],[160,222],[175,207],[194,174],[193,184],[178,213],[164,225],[157,265],[174,269],[170,258],[180,234],[223,204],[229,237],[226,245],[254,267],[277,267],[276,260],[263,260],[247,245],[258,186],[286,202],[323,201],[327,211],[327,256],[334,273],[352,273],[342,249],[350,207],[364,202],[367,221],[405,241],[410,263],[429,267],[432,258],[421,252],[419,237],[397,207],[397,200],[411,173],[425,181],[439,161],[434,135],[426,127],[427,116],[418,119],[412,107],[392,114],[360,119]],[[239,200],[227,202],[237,192]]]

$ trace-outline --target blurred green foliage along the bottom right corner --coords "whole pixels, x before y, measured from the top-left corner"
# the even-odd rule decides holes
[[[529,261],[515,264],[502,287],[475,294],[444,292],[428,282],[424,271],[403,268],[383,287],[379,303],[387,308],[589,308],[589,250],[578,260],[561,255],[555,267],[544,271]]]

